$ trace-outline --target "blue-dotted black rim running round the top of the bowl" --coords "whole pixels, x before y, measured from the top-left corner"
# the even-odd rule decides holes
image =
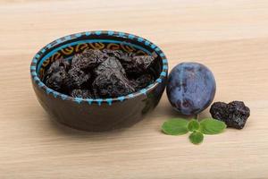
[[[46,87],[46,85],[38,77],[38,71],[39,71],[40,65],[43,63],[44,60],[46,60],[48,55],[51,55],[54,52],[54,51],[51,51],[50,53],[44,56],[46,51],[51,50],[55,46],[61,45],[62,43],[65,43],[71,40],[73,41],[74,39],[81,38],[83,36],[90,37],[90,35],[97,35],[97,36],[106,35],[106,36],[112,36],[112,37],[120,37],[120,38],[130,39],[133,42],[138,41],[139,43],[144,43],[144,45],[154,50],[154,52],[157,55],[159,55],[162,59],[162,62],[163,62],[162,72],[160,73],[159,78],[156,79],[154,83],[147,86],[147,88],[145,89],[142,89],[137,92],[131,93],[127,96],[121,96],[118,98],[72,98],[71,96],[65,95],[63,93],[57,92],[55,90],[52,90]],[[101,39],[96,39],[96,40],[101,41]],[[130,45],[135,46],[135,44],[131,44],[131,43]],[[146,49],[143,48],[143,50],[146,50]],[[32,62],[30,64],[30,73],[31,73],[31,77],[33,81],[35,81],[38,84],[38,87],[40,89],[46,91],[46,94],[53,95],[54,98],[62,98],[63,100],[72,100],[78,104],[80,104],[81,102],[87,102],[89,105],[96,103],[98,104],[98,106],[101,106],[101,104],[104,102],[106,102],[109,106],[111,106],[113,102],[115,101],[123,101],[128,98],[135,98],[139,95],[147,95],[148,90],[154,89],[157,84],[163,82],[164,78],[167,75],[167,72],[168,72],[168,62],[167,62],[165,55],[163,54],[163,51],[159,47],[155,46],[155,44],[153,44],[152,42],[150,42],[149,40],[145,38],[140,38],[138,36],[135,36],[129,33],[117,32],[117,31],[112,31],[112,30],[86,31],[86,32],[80,32],[80,33],[72,34],[69,36],[65,36],[63,38],[58,38],[54,40],[53,42],[47,44],[46,47],[43,47],[41,50],[39,50],[38,53],[33,57]]]

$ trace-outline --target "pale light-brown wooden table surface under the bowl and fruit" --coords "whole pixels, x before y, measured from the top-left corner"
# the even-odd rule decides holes
[[[167,55],[207,65],[215,100],[243,100],[243,130],[205,136],[163,135],[178,116],[166,94],[129,129],[90,133],[56,124],[38,104],[29,63],[41,47],[85,30],[148,38]],[[0,178],[268,178],[268,1],[0,0]],[[201,117],[210,116],[208,109]]]

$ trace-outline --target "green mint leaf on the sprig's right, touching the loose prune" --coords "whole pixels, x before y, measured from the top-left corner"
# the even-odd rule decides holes
[[[218,134],[224,131],[226,124],[213,118],[206,118],[200,122],[200,132],[204,134]]]

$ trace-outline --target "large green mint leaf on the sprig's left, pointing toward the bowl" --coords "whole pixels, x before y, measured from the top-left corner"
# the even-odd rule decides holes
[[[162,131],[168,135],[182,135],[188,132],[188,120],[173,118],[163,123]]]

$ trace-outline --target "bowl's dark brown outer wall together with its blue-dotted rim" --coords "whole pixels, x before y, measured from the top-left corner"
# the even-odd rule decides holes
[[[52,52],[57,47],[70,44],[77,40],[104,38],[122,41],[122,46],[126,45],[125,42],[135,44],[138,47],[147,49],[147,51],[151,53],[154,52],[157,54],[157,59],[160,61],[162,67],[162,69],[159,70],[162,70],[162,72],[160,71],[160,76],[155,80],[155,83],[146,90],[137,91],[133,93],[132,96],[128,95],[128,98],[109,99],[110,102],[108,102],[107,99],[103,99],[104,101],[99,103],[96,99],[93,99],[91,103],[89,102],[91,100],[88,99],[70,98],[51,90],[40,81],[37,66],[39,60],[45,55]],[[37,55],[34,56],[30,71],[33,89],[36,92],[38,101],[41,106],[46,109],[47,113],[54,115],[56,121],[79,130],[102,132],[116,128],[129,127],[142,120],[147,113],[156,107],[165,89],[168,76],[168,63],[162,50],[145,38],[124,32],[97,30],[71,34],[54,40],[46,45],[46,47],[39,50]]]

